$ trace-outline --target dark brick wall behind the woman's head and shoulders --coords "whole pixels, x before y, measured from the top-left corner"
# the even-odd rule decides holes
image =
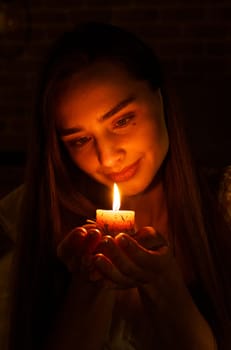
[[[121,25],[150,44],[175,85],[199,163],[231,164],[230,0],[0,0],[0,197],[23,181],[44,55],[82,20]]]

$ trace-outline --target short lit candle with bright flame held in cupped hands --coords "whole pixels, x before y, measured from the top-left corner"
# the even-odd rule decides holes
[[[114,184],[112,210],[96,210],[96,223],[105,235],[116,236],[118,233],[134,234],[135,212],[134,210],[120,209],[120,193],[118,186]]]

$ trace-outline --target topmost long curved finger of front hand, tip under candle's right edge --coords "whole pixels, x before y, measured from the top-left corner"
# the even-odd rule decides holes
[[[125,233],[120,233],[115,239],[125,254],[141,269],[156,271],[162,269],[168,260],[168,245],[155,250],[146,249]]]

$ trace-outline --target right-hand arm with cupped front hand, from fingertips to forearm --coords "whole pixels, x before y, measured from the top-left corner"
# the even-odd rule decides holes
[[[171,247],[146,227],[131,237],[105,236],[97,246],[94,264],[115,288],[137,287],[140,300],[160,347],[216,349],[206,320],[194,304]]]

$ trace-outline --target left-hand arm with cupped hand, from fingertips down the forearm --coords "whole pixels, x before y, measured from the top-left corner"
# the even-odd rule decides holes
[[[71,273],[71,281],[46,349],[99,350],[108,337],[115,291],[103,280],[90,281],[91,257],[102,239],[93,224],[73,229],[58,245],[57,255]],[[100,276],[99,276],[100,277]]]

